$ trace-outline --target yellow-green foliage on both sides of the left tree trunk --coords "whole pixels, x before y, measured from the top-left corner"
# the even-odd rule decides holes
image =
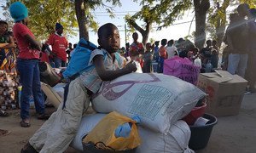
[[[7,0],[3,7],[3,15],[7,20],[12,20],[9,16],[9,5],[17,0]],[[60,22],[64,26],[64,32],[69,36],[76,35],[74,28],[78,27],[78,22],[75,14],[74,0],[20,0],[24,3],[29,11],[29,28],[34,35],[40,39],[45,40],[49,34],[55,31],[55,23]],[[112,6],[120,6],[119,0],[106,0]],[[86,6],[85,14],[89,20],[89,27],[94,31],[97,30],[98,25],[94,19],[91,10],[102,7],[106,8],[110,15],[112,14],[112,7],[105,5],[102,0],[84,0]]]

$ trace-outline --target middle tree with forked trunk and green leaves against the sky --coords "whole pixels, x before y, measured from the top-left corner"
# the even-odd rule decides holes
[[[136,1],[136,0],[135,0]],[[192,5],[190,0],[142,0],[143,8],[134,15],[126,15],[128,26],[139,31],[143,36],[143,44],[148,41],[152,25],[158,25],[158,30],[170,26],[178,16],[183,14]],[[137,24],[138,20],[144,22],[143,26]]]

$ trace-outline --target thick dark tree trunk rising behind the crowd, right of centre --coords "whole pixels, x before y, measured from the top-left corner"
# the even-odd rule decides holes
[[[199,49],[206,42],[207,10],[210,8],[209,0],[194,0],[195,7],[195,46]]]

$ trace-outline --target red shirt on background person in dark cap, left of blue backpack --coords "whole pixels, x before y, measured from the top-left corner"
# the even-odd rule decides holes
[[[57,33],[51,34],[49,36],[47,44],[51,45],[52,52],[56,54],[58,58],[63,61],[67,61],[66,49],[68,42],[66,37],[59,36]]]

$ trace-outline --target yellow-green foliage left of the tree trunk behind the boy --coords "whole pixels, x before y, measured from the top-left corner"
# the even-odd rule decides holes
[[[16,0],[8,0],[7,6]],[[78,27],[74,4],[71,1],[59,0],[21,0],[29,11],[29,28],[40,40],[45,40],[55,31],[55,23],[64,27],[64,32],[74,35],[74,27]]]

